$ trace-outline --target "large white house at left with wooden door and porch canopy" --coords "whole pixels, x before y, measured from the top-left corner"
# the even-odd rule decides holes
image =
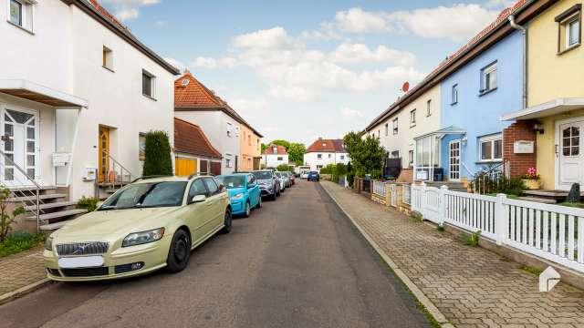
[[[78,200],[141,175],[145,132],[172,144],[176,68],[97,2],[0,0],[0,15],[3,184]]]

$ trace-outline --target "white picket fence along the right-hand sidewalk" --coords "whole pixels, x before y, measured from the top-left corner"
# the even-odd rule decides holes
[[[412,185],[412,210],[584,272],[584,210]]]

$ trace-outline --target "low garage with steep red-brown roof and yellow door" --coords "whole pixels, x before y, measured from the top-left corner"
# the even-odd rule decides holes
[[[221,153],[213,147],[201,127],[180,118],[174,118],[174,155],[177,176],[221,174]]]

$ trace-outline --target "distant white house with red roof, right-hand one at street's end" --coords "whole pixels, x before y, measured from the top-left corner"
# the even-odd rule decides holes
[[[318,138],[304,153],[304,165],[310,170],[320,170],[328,164],[348,164],[349,161],[341,139]]]

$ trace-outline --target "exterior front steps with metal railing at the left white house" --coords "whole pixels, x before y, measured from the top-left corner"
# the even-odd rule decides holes
[[[17,228],[32,231],[36,230],[37,226],[39,231],[55,231],[68,220],[87,213],[87,210],[77,208],[77,201],[68,200],[68,190],[50,186],[38,189],[38,206],[36,206],[36,190],[36,187],[11,189],[12,194],[6,200],[9,208],[23,206],[26,210],[17,218]],[[36,224],[37,217],[38,224]]]

